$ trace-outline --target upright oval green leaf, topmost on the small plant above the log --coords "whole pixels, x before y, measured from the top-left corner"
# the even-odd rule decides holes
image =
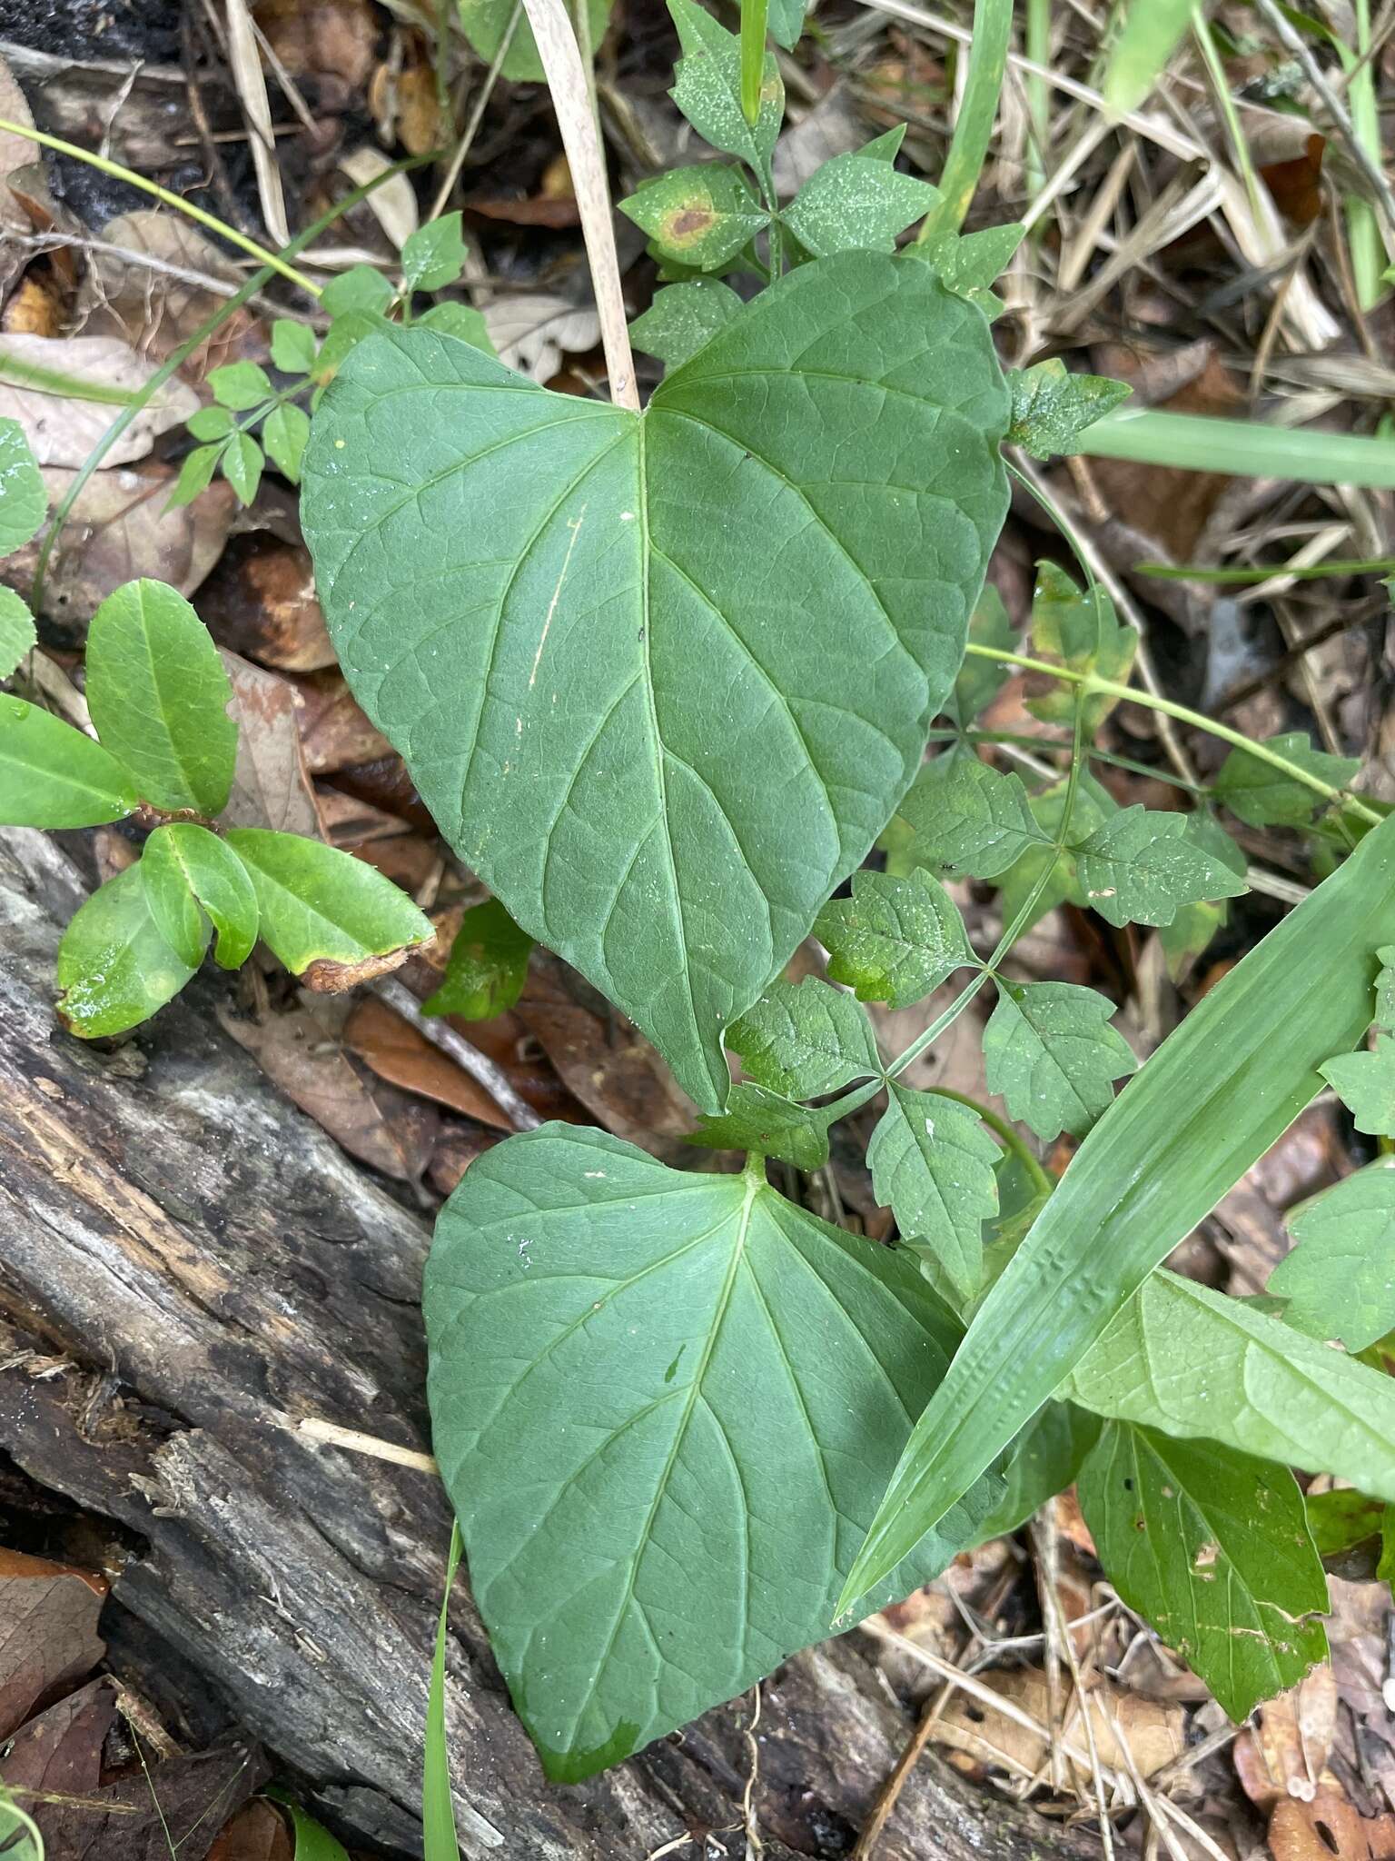
[[[218,648],[184,596],[134,581],[102,601],[87,631],[87,705],[147,802],[221,813],[238,754],[231,703]]]

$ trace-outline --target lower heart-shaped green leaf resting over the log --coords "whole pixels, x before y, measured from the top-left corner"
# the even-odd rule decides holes
[[[757,1174],[547,1124],[478,1158],[426,1267],[432,1439],[556,1781],[822,1638],[954,1325],[915,1262]],[[869,1608],[973,1539],[975,1494]]]

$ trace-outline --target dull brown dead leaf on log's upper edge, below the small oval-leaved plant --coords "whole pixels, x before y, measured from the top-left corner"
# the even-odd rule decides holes
[[[439,1113],[361,1068],[340,1038],[348,1003],[316,1003],[262,1022],[219,1009],[219,1022],[268,1079],[350,1156],[385,1176],[418,1182],[441,1128]]]

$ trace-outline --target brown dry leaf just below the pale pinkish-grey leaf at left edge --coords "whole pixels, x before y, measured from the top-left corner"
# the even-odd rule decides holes
[[[110,411],[110,409],[108,409]],[[54,510],[76,473],[60,465],[43,471]],[[227,542],[236,497],[221,478],[192,504],[166,510],[175,471],[156,460],[140,467],[99,471],[78,493],[58,547],[48,560],[43,609],[52,622],[86,627],[113,588],[149,575],[190,596],[203,582]],[[28,597],[45,530],[4,562],[4,579]],[[74,640],[78,633],[74,631]]]

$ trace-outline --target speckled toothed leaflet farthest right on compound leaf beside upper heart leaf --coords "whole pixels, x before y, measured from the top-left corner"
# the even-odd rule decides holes
[[[1075,841],[1086,903],[1112,925],[1168,925],[1181,904],[1235,899],[1242,878],[1187,832],[1187,815],[1135,804]]]

